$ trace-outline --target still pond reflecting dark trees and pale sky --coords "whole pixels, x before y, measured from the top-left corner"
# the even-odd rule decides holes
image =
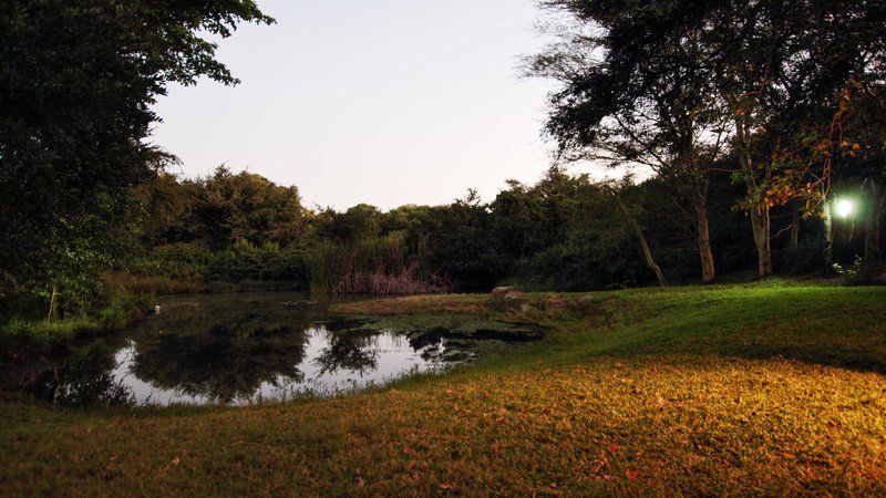
[[[158,301],[130,330],[55,347],[27,391],[64,405],[246,405],[332,396],[477,355],[477,341],[343,320],[296,292],[205,294]],[[426,320],[426,319],[425,319]],[[445,322],[445,321],[443,321]],[[497,341],[508,340],[498,334]],[[525,339],[525,338],[516,338]]]

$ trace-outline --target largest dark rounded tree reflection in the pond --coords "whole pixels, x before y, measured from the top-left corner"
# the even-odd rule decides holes
[[[171,309],[137,340],[133,373],[163,390],[216,403],[250,398],[261,384],[298,382],[308,323],[285,307]]]

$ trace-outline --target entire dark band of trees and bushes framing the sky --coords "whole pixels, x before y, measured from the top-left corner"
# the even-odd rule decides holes
[[[0,312],[125,314],[141,295],[591,290],[771,274],[883,281],[886,9],[867,1],[542,2],[560,83],[540,180],[442,206],[310,209],[151,145],[169,83],[236,84],[202,33],[251,1],[16,0],[0,14]],[[75,48],[75,49],[74,49]],[[39,82],[39,84],[34,84]],[[638,172],[615,181],[583,162]],[[309,165],[305,165],[306,167]]]

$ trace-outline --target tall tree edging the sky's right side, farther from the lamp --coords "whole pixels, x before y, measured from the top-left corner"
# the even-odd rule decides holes
[[[563,84],[550,97],[547,132],[573,158],[642,165],[676,179],[676,194],[694,210],[702,280],[713,280],[709,176],[727,138],[722,116],[710,112],[712,74],[704,62],[712,54],[704,39],[713,28],[690,23],[693,9],[679,3],[543,4],[578,27],[530,63],[532,74]]]

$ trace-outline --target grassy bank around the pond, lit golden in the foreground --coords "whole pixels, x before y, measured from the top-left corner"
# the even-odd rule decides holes
[[[0,495],[884,494],[886,289],[349,304],[552,329],[445,377],[277,406],[0,407]]]

